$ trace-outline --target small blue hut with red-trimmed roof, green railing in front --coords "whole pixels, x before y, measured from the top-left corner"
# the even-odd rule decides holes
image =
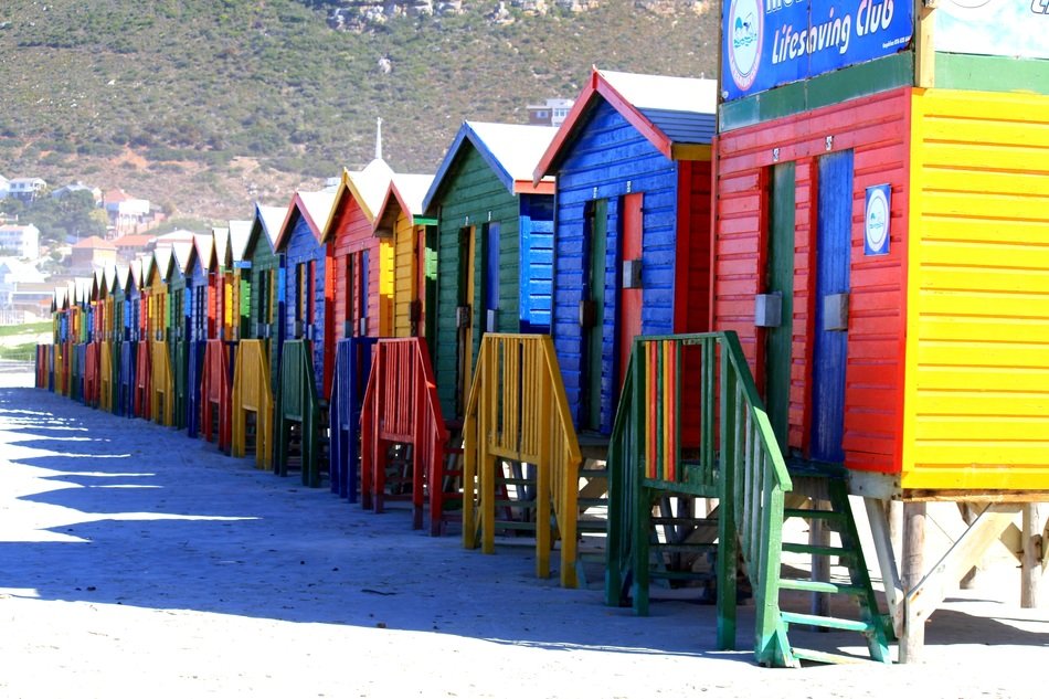
[[[274,246],[287,266],[286,339],[276,399],[274,468],[280,475],[287,473],[292,432],[296,428],[303,483],[311,487],[320,485],[320,439],[327,431],[321,401],[327,404],[322,396],[331,382],[332,357],[325,353],[325,338],[333,336],[332,284],[329,246],[321,239],[333,201],[335,192],[296,192]]]

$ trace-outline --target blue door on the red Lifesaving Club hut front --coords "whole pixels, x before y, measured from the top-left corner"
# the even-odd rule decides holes
[[[845,368],[848,331],[849,263],[852,250],[852,151],[819,159],[816,223],[816,327],[813,348],[809,456],[841,463],[845,449]],[[845,295],[845,296],[843,296]]]

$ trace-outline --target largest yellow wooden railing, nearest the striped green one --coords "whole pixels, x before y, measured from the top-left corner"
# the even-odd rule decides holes
[[[553,341],[547,335],[485,335],[464,420],[463,543],[495,551],[497,468],[533,464],[536,574],[550,575],[561,540],[561,584],[575,587],[582,455]],[[555,522],[554,531],[551,522]]]

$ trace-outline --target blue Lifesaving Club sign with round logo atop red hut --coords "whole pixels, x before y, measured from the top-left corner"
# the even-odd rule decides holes
[[[723,0],[724,99],[872,61],[908,47],[909,0]]]

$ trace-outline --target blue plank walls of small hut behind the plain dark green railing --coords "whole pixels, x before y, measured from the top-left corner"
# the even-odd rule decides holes
[[[326,333],[327,324],[331,322],[331,314],[328,308],[327,294],[330,293],[328,285],[328,244],[321,243],[318,233],[303,215],[298,206],[295,206],[289,220],[286,223],[287,230],[279,242],[278,252],[285,255],[286,269],[286,297],[287,313],[285,314],[285,337],[290,339],[307,338],[312,341],[312,361],[314,378],[317,382],[317,391],[320,395],[328,395],[331,388],[331,357],[335,353],[326,352],[326,341],[331,341],[331,333]],[[307,275],[308,283],[300,287],[296,283],[296,269],[303,265]],[[310,272],[311,278],[310,278]],[[301,294],[307,294],[300,298]],[[303,309],[303,331],[295,332],[296,314],[295,309],[301,306]]]

